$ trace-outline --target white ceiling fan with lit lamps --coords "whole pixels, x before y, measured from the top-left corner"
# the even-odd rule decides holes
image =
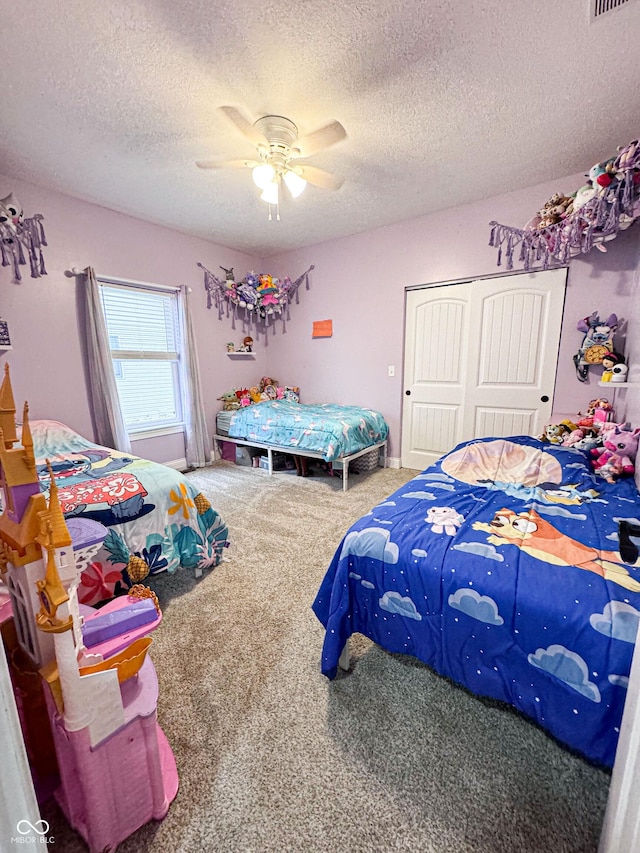
[[[346,131],[339,121],[329,122],[319,130],[300,138],[296,125],[284,116],[263,116],[251,124],[235,107],[225,106],[218,109],[255,146],[257,158],[197,160],[196,166],[199,168],[251,169],[254,183],[262,190],[260,198],[270,205],[278,204],[278,192],[282,183],[293,198],[297,198],[304,191],[307,183],[326,190],[337,190],[342,186],[343,180],[337,175],[300,162],[301,159],[311,157],[346,137]]]

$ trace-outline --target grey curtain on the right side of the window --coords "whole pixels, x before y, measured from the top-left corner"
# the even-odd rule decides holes
[[[209,434],[204,416],[204,396],[196,339],[191,319],[190,290],[180,288],[178,302],[182,321],[183,408],[186,429],[186,457],[189,468],[202,468],[209,462]]]

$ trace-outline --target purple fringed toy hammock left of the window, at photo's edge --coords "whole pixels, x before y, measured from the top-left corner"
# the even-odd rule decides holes
[[[42,218],[36,213],[25,219],[22,206],[13,193],[0,199],[0,256],[3,267],[13,264],[16,281],[22,281],[20,267],[27,263],[27,258],[31,278],[47,274],[42,254],[42,247],[47,245]]]

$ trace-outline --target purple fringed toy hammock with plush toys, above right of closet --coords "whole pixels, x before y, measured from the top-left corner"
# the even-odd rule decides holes
[[[498,249],[497,265],[503,250],[507,269],[513,268],[513,254],[520,246],[519,260],[524,269],[547,269],[557,261],[590,252],[640,217],[640,142],[635,139],[615,157],[596,163],[587,184],[571,196],[556,193],[524,228],[491,222],[489,245]]]

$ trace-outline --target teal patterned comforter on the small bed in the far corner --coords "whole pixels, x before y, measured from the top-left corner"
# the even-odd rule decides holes
[[[238,409],[229,427],[232,438],[322,453],[326,462],[384,441],[388,432],[385,419],[372,409],[288,400]]]

